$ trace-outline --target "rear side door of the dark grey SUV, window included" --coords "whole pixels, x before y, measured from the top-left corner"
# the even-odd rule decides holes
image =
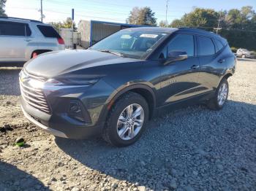
[[[223,70],[222,55],[219,47],[214,44],[214,39],[209,36],[197,36],[197,44],[200,63],[198,79],[201,87],[200,93],[206,93],[215,90],[218,86]]]

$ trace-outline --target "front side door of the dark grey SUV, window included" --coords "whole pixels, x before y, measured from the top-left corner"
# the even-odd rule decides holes
[[[199,93],[199,61],[195,56],[195,37],[193,34],[177,34],[167,44],[167,52],[186,51],[188,58],[166,66],[162,65],[161,96],[162,105],[192,97]]]

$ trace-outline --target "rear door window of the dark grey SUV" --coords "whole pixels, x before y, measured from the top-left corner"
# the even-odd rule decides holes
[[[214,55],[215,47],[211,38],[198,36],[199,52],[198,55]]]

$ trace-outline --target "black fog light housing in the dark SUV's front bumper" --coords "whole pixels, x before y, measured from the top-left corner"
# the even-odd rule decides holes
[[[83,104],[78,100],[69,102],[69,117],[75,118],[81,122],[91,122],[90,117]]]

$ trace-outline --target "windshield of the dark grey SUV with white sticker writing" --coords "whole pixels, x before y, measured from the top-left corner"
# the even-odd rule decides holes
[[[89,49],[116,53],[127,58],[146,58],[167,37],[165,33],[148,31],[118,31]]]

